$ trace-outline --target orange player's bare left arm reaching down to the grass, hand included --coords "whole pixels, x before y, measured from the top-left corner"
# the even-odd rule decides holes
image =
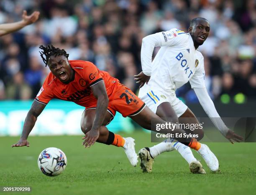
[[[27,146],[29,147],[29,142],[27,141],[28,135],[33,129],[37,117],[41,114],[41,112],[44,110],[46,104],[42,104],[36,100],[34,100],[30,110],[28,111],[27,117],[24,122],[22,134],[20,136],[20,140],[13,144],[12,147],[21,147],[21,146]]]

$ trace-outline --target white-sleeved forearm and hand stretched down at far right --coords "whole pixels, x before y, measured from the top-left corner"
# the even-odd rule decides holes
[[[233,141],[241,142],[243,137],[230,130],[220,118],[220,115],[215,109],[213,101],[210,98],[206,88],[194,88],[194,91],[206,114],[209,116],[215,127],[220,130],[221,134],[223,134],[223,136],[227,138],[232,144]]]

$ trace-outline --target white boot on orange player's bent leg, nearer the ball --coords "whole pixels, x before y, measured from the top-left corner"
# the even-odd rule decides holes
[[[135,152],[135,143],[134,143],[134,139],[131,137],[125,137],[123,138],[125,139],[125,144],[123,146],[123,149],[125,151],[126,156],[128,157],[128,160],[131,162],[131,165],[133,167],[136,167],[137,163],[138,163],[138,156]]]

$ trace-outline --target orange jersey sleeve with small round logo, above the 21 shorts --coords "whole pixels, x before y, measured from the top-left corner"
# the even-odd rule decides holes
[[[84,80],[87,81],[90,87],[103,81],[100,70],[91,62],[87,62],[84,68]]]

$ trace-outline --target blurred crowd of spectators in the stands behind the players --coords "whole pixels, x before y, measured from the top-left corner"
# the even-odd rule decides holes
[[[142,38],[171,28],[187,32],[195,17],[211,26],[199,47],[211,98],[256,98],[255,0],[1,0],[0,23],[20,20],[23,10],[39,10],[40,18],[0,38],[0,99],[36,96],[49,73],[38,48],[46,44],[64,48],[70,60],[92,61],[137,91]],[[189,84],[177,95],[197,102]]]

